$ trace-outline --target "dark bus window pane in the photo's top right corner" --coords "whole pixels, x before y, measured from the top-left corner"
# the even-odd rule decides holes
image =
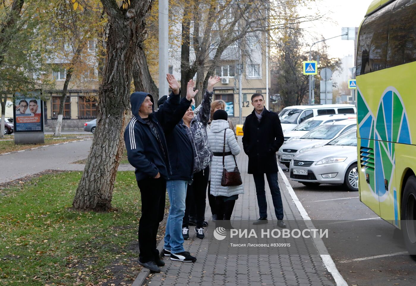
[[[416,0],[398,0],[390,20],[387,67],[416,60]]]

